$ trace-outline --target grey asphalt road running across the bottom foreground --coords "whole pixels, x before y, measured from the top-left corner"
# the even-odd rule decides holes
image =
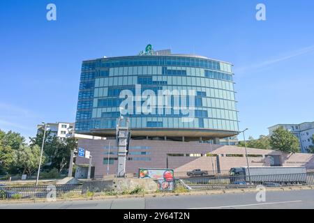
[[[256,193],[180,195],[171,197],[105,199],[45,203],[0,203],[0,209],[314,209],[314,190],[266,192],[266,200],[256,201]]]

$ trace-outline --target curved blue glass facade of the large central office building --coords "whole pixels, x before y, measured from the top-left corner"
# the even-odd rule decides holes
[[[195,118],[183,122],[174,112],[132,114],[133,130],[239,130],[230,63],[193,56],[123,56],[83,61],[75,131],[115,129],[123,100],[119,94],[125,89],[134,92],[136,84],[156,93],[194,90]]]

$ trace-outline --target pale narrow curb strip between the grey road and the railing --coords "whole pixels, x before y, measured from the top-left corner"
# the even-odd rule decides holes
[[[313,186],[294,186],[294,187],[273,187],[267,188],[267,191],[292,191],[292,190],[314,190]],[[29,199],[29,200],[6,200],[0,201],[0,204],[5,203],[52,203],[52,202],[66,202],[66,201],[97,201],[107,199],[128,199],[128,198],[155,198],[155,197],[177,197],[177,196],[195,196],[195,195],[215,195],[215,194],[239,194],[239,193],[252,193],[256,189],[230,189],[230,190],[203,190],[195,192],[184,193],[153,193],[153,194],[128,194],[128,195],[114,195],[104,196],[96,195],[95,197],[73,197],[73,198],[59,198],[56,201],[47,201],[46,199]]]

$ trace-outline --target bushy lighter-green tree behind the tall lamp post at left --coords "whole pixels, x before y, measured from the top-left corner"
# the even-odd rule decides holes
[[[16,153],[16,166],[22,167],[23,174],[31,176],[34,171],[38,170],[40,162],[40,147],[21,146]],[[42,157],[41,163],[45,163],[45,155]]]

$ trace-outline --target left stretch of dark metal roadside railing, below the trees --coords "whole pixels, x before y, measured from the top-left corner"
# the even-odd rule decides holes
[[[0,186],[0,200],[3,199],[36,199],[47,198],[50,188],[55,188],[56,197],[63,197],[66,194],[82,194],[82,185],[54,185],[54,186],[22,186],[10,187]]]

